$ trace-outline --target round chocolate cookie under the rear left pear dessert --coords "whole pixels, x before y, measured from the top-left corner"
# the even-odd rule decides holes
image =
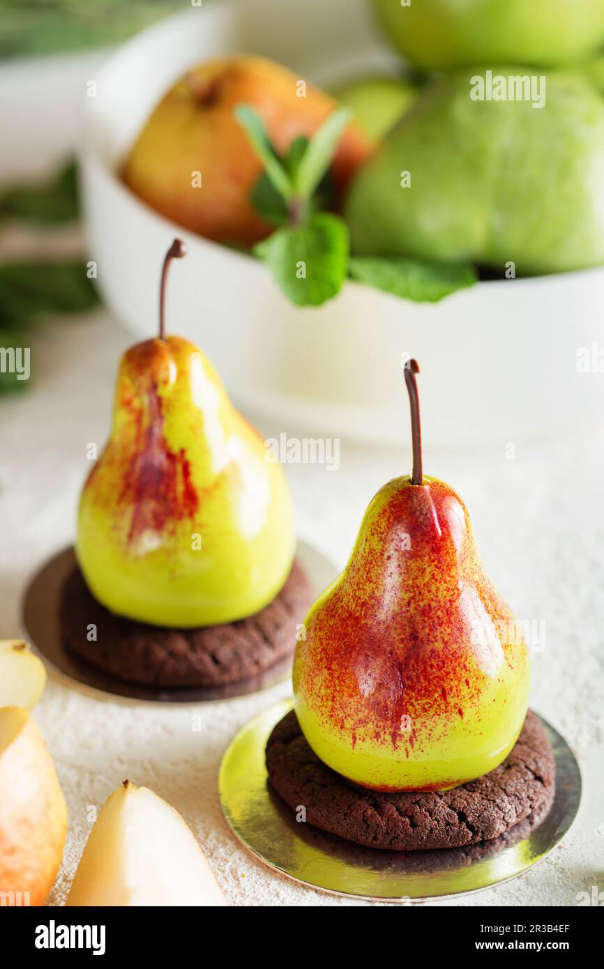
[[[297,626],[313,602],[300,562],[269,606],[238,622],[164,629],[126,619],[92,596],[78,568],[63,586],[59,623],[65,647],[117,679],[164,688],[211,688],[270,670],[296,648]],[[96,641],[88,631],[96,627]]]

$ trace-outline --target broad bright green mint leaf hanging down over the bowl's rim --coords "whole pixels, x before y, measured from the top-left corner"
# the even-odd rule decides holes
[[[254,246],[277,285],[297,306],[320,306],[339,293],[348,265],[348,228],[320,212],[304,226],[277,229]]]

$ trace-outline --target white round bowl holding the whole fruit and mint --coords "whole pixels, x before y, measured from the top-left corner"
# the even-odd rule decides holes
[[[604,270],[480,283],[436,304],[348,283],[318,309],[297,309],[268,270],[178,229],[140,203],[115,166],[186,68],[235,51],[265,54],[329,84],[396,64],[366,0],[221,0],[121,47],[87,99],[83,198],[98,281],[137,334],[156,328],[157,282],[174,234],[190,247],[173,270],[169,328],[198,342],[239,406],[283,430],[399,442],[408,436],[400,359],[422,368],[434,445],[518,442],[601,422],[601,378],[577,369],[604,347]]]

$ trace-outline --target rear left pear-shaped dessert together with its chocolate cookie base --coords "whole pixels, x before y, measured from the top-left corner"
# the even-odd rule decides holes
[[[293,652],[294,606],[307,599],[303,615],[311,602],[300,566],[292,567],[281,465],[202,351],[165,333],[166,274],[185,251],[176,239],[164,261],[158,337],[121,360],[111,438],[79,503],[85,586],[74,578],[63,597],[68,647],[120,678],[160,686],[262,672],[287,636]],[[285,605],[266,615],[281,593]],[[259,614],[260,623],[245,626]],[[92,641],[88,625],[99,627]]]

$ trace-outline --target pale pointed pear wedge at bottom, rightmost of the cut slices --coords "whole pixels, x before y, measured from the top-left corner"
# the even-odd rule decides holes
[[[68,905],[226,905],[178,812],[124,781],[107,800],[79,861]]]

